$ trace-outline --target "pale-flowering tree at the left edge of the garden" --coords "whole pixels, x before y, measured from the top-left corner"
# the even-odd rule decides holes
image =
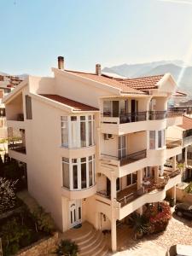
[[[15,207],[15,184],[17,181],[9,181],[0,177],[0,213]]]

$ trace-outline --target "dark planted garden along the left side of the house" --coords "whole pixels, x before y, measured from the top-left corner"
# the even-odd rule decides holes
[[[20,249],[52,236],[55,224],[42,207],[33,211],[17,196],[26,189],[26,166],[0,157],[0,238],[3,256],[15,255]]]

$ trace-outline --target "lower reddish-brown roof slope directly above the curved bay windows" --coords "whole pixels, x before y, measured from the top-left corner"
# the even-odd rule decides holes
[[[45,98],[48,98],[55,102],[60,102],[64,105],[67,105],[71,108],[73,108],[73,111],[98,111],[97,108],[90,107],[88,105],[85,105],[84,103],[75,102],[73,100],[67,99],[66,97],[55,95],[55,94],[39,94],[40,96],[44,96]]]

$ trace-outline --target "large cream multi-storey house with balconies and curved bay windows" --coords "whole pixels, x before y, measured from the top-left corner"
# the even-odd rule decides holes
[[[177,85],[170,73],[114,79],[99,64],[74,72],[63,57],[52,72],[5,97],[9,155],[26,163],[29,192],[60,230],[87,220],[111,230],[115,251],[117,224],[168,190],[175,198],[181,182],[182,137],[167,134],[183,124],[182,112],[167,109]]]

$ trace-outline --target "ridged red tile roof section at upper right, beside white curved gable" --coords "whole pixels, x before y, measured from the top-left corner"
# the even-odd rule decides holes
[[[125,84],[136,90],[146,91],[151,89],[157,89],[158,82],[160,82],[160,79],[162,79],[163,77],[164,77],[164,74],[151,76],[151,77],[138,78],[138,79],[116,79],[116,80],[119,81],[121,84]]]

